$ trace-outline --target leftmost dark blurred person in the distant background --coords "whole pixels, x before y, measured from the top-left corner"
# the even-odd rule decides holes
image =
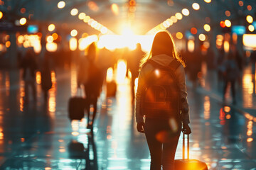
[[[21,69],[23,70],[22,78],[25,82],[25,98],[24,102],[29,102],[29,87],[32,90],[33,101],[37,101],[36,98],[36,69],[38,64],[36,62],[36,54],[33,48],[28,48],[25,56],[21,60]]]

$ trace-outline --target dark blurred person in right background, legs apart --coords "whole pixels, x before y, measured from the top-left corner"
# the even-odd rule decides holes
[[[233,104],[236,103],[235,98],[235,81],[240,78],[240,72],[238,63],[235,61],[235,56],[232,52],[228,54],[227,60],[223,62],[224,73],[224,89],[223,89],[223,101],[225,101],[225,94],[228,89],[228,84],[231,85],[231,92],[233,98]]]

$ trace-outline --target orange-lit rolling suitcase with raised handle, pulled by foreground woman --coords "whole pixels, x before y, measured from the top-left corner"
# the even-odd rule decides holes
[[[183,134],[182,159],[176,159],[174,161],[175,170],[208,170],[208,166],[205,162],[201,162],[197,159],[189,159],[189,135],[187,140],[188,158],[185,159],[185,134]]]

